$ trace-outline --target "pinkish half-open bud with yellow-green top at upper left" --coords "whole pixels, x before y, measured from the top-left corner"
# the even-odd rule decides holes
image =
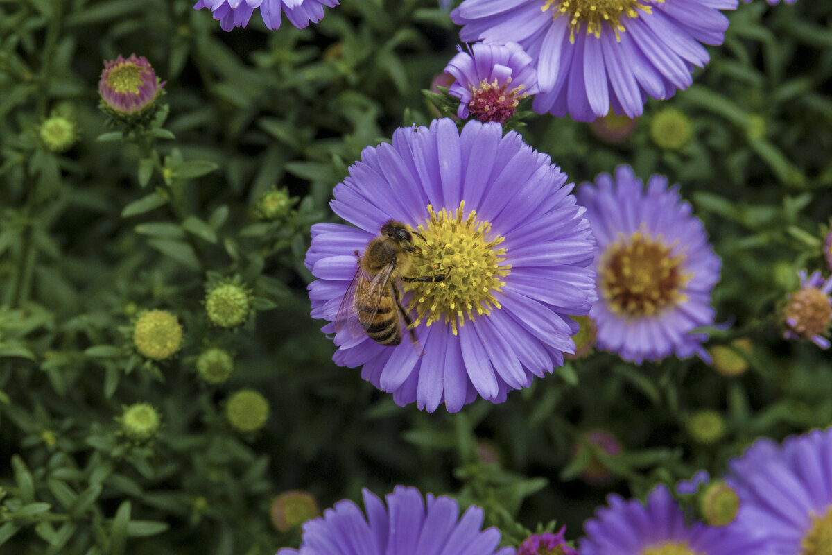
[[[121,54],[112,61],[104,61],[98,92],[102,110],[120,121],[135,122],[151,113],[156,97],[163,94],[165,82],[156,77],[144,56]]]

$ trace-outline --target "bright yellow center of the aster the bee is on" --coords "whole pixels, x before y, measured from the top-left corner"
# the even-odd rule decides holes
[[[409,310],[418,315],[414,325],[432,325],[442,320],[451,325],[453,334],[466,318],[488,315],[501,308],[494,292],[506,285],[508,275],[506,250],[499,247],[503,237],[491,232],[488,221],[478,221],[476,211],[464,215],[464,201],[456,214],[428,205],[428,221],[418,226],[423,235],[421,256],[414,260],[412,275],[446,275],[442,281],[405,283],[412,293]]]

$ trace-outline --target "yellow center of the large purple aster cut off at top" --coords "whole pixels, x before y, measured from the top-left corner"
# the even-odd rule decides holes
[[[664,0],[656,0],[664,2]],[[641,0],[645,2],[645,0]],[[606,22],[621,40],[618,32],[625,31],[622,17],[638,17],[637,10],[651,13],[651,6],[638,0],[546,0],[541,10],[552,7],[552,19],[561,15],[569,17],[569,42],[575,42],[575,33],[586,25],[587,35],[601,37],[601,26]]]

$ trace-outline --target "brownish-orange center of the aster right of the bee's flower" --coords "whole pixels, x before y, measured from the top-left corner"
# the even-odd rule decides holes
[[[636,231],[621,236],[602,255],[598,269],[601,294],[610,309],[630,319],[654,316],[687,300],[682,292],[691,274],[683,272],[684,254],[674,245]]]

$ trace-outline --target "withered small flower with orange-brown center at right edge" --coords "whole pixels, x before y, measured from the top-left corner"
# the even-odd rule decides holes
[[[783,310],[786,339],[810,339],[821,349],[829,349],[830,340],[823,334],[832,320],[832,278],[824,281],[820,271],[808,278],[806,270],[800,270],[800,290],[788,296]]]

